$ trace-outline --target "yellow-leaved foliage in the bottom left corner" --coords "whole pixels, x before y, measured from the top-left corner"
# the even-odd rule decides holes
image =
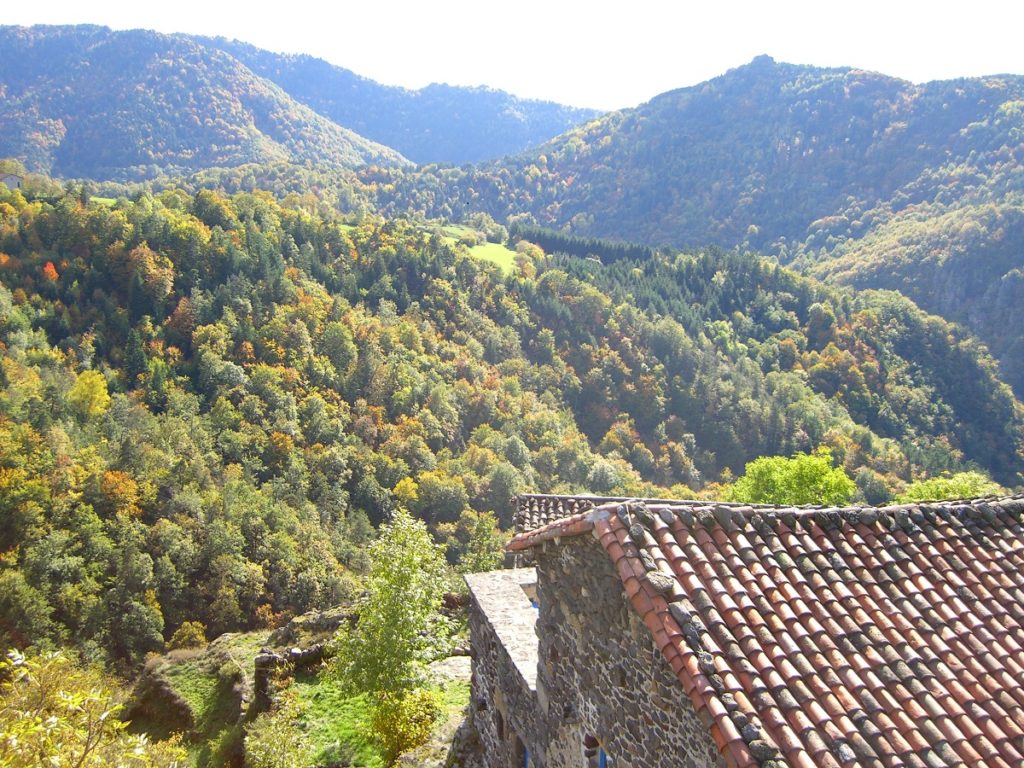
[[[0,765],[38,768],[175,768],[176,739],[151,742],[127,732],[121,694],[99,672],[60,653],[0,663]]]

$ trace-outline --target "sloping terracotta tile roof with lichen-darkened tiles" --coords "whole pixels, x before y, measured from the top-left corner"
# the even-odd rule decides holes
[[[730,766],[1024,765],[1024,498],[598,506],[592,532]]]

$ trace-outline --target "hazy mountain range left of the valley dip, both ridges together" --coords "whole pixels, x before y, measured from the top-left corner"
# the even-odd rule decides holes
[[[102,27],[0,27],[0,158],[92,179],[245,163],[490,160],[598,113],[489,88],[388,87],[310,56]]]

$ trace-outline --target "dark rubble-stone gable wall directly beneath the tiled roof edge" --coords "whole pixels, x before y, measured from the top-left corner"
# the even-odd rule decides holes
[[[589,536],[549,542],[537,551],[537,570],[535,764],[591,768],[599,744],[616,768],[722,768],[598,543]]]

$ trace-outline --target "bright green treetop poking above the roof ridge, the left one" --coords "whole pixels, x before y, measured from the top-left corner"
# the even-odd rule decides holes
[[[848,504],[857,486],[831,452],[797,454],[792,459],[764,456],[746,465],[732,486],[731,499],[753,504]]]

